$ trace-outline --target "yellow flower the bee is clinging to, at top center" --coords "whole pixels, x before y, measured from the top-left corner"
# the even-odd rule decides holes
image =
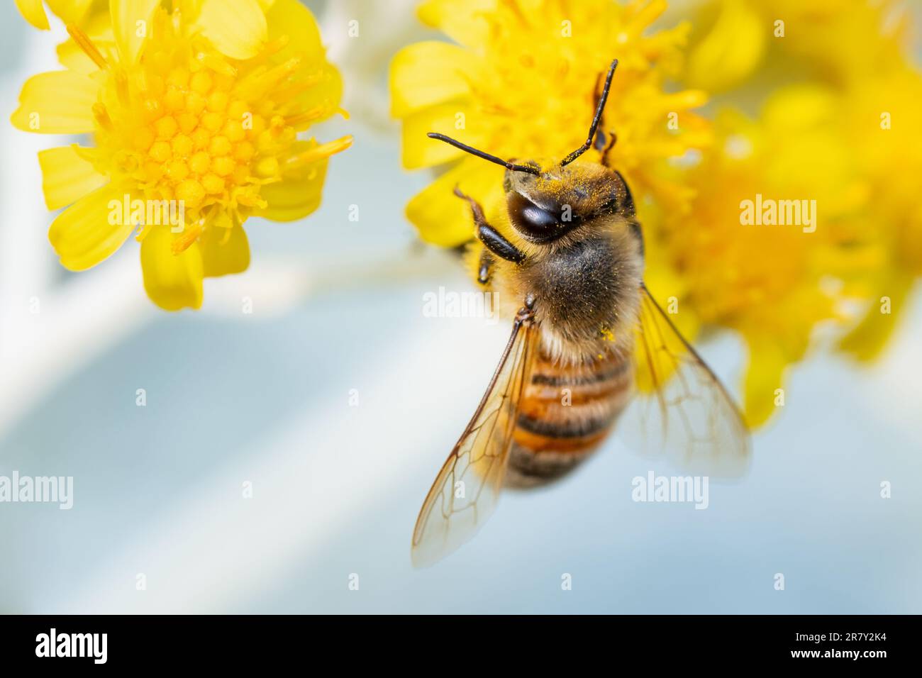
[[[667,93],[687,26],[645,35],[665,0],[429,0],[420,18],[458,44],[418,42],[394,57],[391,113],[403,123],[403,164],[443,173],[407,206],[421,237],[454,246],[473,237],[455,185],[486,205],[502,198],[502,168],[426,137],[458,138],[502,158],[562,157],[585,141],[597,78],[618,73],[600,129],[617,135],[611,161],[638,200],[680,209],[688,194],[664,178],[666,159],[706,144],[708,126],[690,109],[702,92]],[[670,115],[679,129],[668,125]],[[676,125],[672,125],[676,126]],[[598,159],[596,150],[584,156]]]

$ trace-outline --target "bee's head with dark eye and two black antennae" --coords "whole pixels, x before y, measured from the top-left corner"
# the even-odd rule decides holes
[[[532,243],[553,242],[580,224],[603,214],[621,212],[632,215],[631,193],[621,174],[598,163],[571,164],[589,149],[596,138],[617,65],[618,59],[615,59],[609,66],[585,144],[561,161],[504,161],[451,137],[434,132],[430,132],[429,136],[506,168],[502,185],[509,218],[515,230]]]

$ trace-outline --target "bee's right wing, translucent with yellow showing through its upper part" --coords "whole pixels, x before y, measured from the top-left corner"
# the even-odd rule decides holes
[[[637,392],[623,427],[626,442],[693,473],[745,473],[750,437],[737,406],[643,285],[634,359]]]

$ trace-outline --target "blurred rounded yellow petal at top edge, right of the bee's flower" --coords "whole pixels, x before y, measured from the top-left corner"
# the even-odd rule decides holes
[[[738,84],[762,61],[771,28],[748,3],[724,0],[714,27],[691,51],[689,84],[709,91]]]

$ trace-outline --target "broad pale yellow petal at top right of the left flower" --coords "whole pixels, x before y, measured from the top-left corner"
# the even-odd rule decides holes
[[[268,40],[266,15],[256,0],[204,0],[198,22],[205,37],[232,59],[254,57]]]

